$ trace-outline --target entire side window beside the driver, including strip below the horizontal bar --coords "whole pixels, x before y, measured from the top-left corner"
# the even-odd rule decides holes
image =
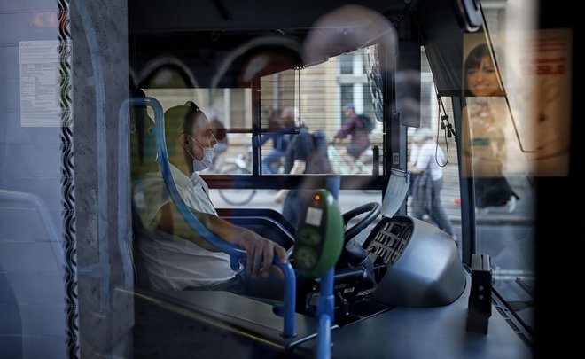
[[[355,207],[355,200],[366,196],[369,202],[381,203],[382,190],[372,186],[372,176],[384,173],[384,103],[381,74],[378,69],[377,46],[372,45],[339,56],[332,56],[313,66],[296,67],[289,70],[261,76],[257,86],[259,127],[249,124],[246,135],[233,134],[228,130],[230,146],[222,155],[218,166],[220,174],[253,175],[248,181],[232,177],[224,187],[220,176],[209,176],[212,199],[217,207],[269,207],[284,211],[283,203],[275,196],[279,187],[290,186],[286,179],[254,180],[255,176],[285,176],[291,169],[287,164],[290,140],[300,130],[319,134],[326,146],[326,156],[331,162],[331,173],[341,176],[355,176],[348,188],[341,190],[339,201],[343,210]],[[347,159],[345,152],[351,144],[351,137],[332,144],[333,138],[347,121],[344,107],[353,105],[355,113],[364,121],[363,128],[368,143],[357,159]],[[257,126],[257,130],[252,130]],[[250,141],[250,135],[255,138]],[[242,141],[231,141],[232,137],[245,136]],[[238,137],[236,137],[238,138]],[[241,137],[240,137],[241,138]],[[250,146],[252,144],[252,146]],[[254,148],[253,144],[257,144]],[[375,149],[375,150],[374,150]],[[358,171],[352,173],[351,165]],[[288,167],[287,167],[288,166]],[[213,174],[207,172],[206,174]],[[254,182],[255,181],[255,182]],[[244,183],[246,182],[246,183]],[[237,184],[233,186],[234,184]],[[356,219],[357,220],[357,219]]]

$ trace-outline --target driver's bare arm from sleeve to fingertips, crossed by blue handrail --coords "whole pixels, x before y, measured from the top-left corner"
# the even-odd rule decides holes
[[[260,236],[253,230],[234,225],[217,215],[197,212],[192,208],[191,212],[215,236],[246,250],[246,269],[253,275],[261,273],[262,276],[268,276],[275,254],[281,263],[286,262],[285,248],[268,238]],[[208,244],[205,239],[191,229],[191,226],[184,220],[183,215],[178,213],[172,203],[167,203],[161,207],[154,221],[158,221],[154,226],[158,230],[164,230],[177,237],[191,240],[191,242],[209,251],[218,251],[217,248]]]

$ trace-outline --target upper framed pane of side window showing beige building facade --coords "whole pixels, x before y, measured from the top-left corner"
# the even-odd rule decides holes
[[[329,160],[335,173],[339,175],[372,175],[380,173],[380,168],[373,168],[374,146],[383,147],[383,115],[378,109],[378,84],[372,79],[371,59],[376,57],[377,47],[352,51],[315,66],[292,69],[278,74],[261,78],[261,108],[262,113],[269,113],[275,126],[285,129],[286,115],[283,110],[293,109],[294,121],[300,123],[309,131],[324,131],[327,142]],[[337,144],[332,140],[347,121],[344,107],[351,105],[353,112],[363,119],[363,152],[355,152],[357,158],[344,156],[348,144],[353,144],[352,137],[341,138]],[[264,122],[264,119],[262,119]],[[269,132],[277,132],[272,128]],[[352,135],[353,136],[353,135]],[[262,160],[266,165],[262,168],[263,174],[282,174],[284,172],[284,153],[280,163],[276,165],[267,161],[264,156],[270,156],[271,146],[277,145],[274,140],[262,144]],[[382,163],[378,158],[378,166]]]

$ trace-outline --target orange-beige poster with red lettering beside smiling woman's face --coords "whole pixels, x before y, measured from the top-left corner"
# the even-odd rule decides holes
[[[572,117],[572,32],[545,29],[530,35],[507,35],[500,37],[499,43],[488,43],[484,34],[465,35],[464,64],[469,63],[474,49],[487,47],[499,87],[479,96],[464,83],[466,103],[478,104],[468,106],[467,111],[483,105],[494,113],[506,148],[505,159],[501,159],[504,170],[530,176],[566,176]],[[468,70],[463,71],[467,82]]]

